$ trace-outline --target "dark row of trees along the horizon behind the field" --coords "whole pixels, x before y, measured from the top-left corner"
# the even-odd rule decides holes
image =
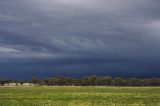
[[[83,78],[68,78],[68,77],[51,77],[39,79],[33,77],[31,80],[0,80],[0,85],[23,85],[30,83],[34,85],[47,86],[160,86],[160,78],[112,78],[112,77],[97,77],[88,76]]]

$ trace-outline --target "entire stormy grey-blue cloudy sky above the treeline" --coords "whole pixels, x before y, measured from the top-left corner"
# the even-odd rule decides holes
[[[0,77],[160,76],[160,0],[0,0]]]

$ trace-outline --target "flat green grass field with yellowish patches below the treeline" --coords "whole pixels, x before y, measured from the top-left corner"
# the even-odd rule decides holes
[[[160,87],[0,87],[0,106],[160,106]]]

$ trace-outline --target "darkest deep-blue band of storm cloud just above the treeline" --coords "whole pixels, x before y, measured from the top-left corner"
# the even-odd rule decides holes
[[[8,66],[9,64],[7,64]],[[142,67],[141,64],[130,63],[107,63],[107,64],[79,64],[79,65],[54,65],[54,64],[18,64],[20,66],[10,65],[10,68],[5,67],[0,72],[0,76],[14,79],[30,79],[32,76],[38,76],[41,78],[52,76],[70,76],[70,77],[82,77],[87,75],[97,76],[113,76],[113,77],[159,77],[159,71],[148,67]],[[1,66],[2,67],[2,66]],[[157,66],[158,67],[158,66]],[[145,70],[144,70],[145,68]],[[98,71],[97,71],[98,70]],[[4,75],[4,76],[3,76]]]

